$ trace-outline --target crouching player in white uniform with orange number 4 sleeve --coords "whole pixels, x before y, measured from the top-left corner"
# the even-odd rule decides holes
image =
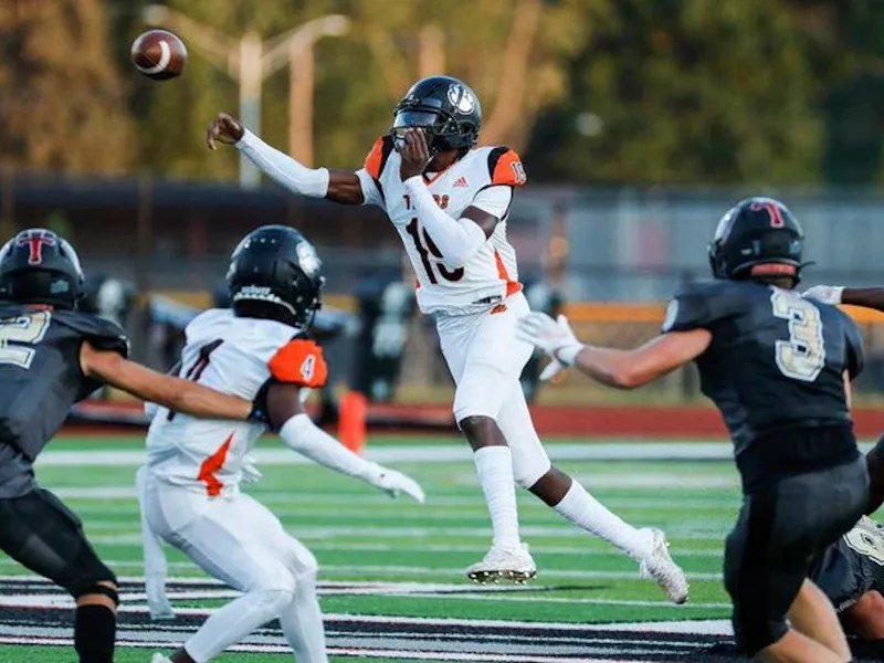
[[[391,494],[423,502],[411,478],[365,461],[316,428],[302,390],[322,387],[322,350],[305,338],[323,283],[313,246],[295,230],[267,225],[233,252],[233,308],[212,309],[187,328],[182,378],[266,402],[293,450]],[[260,394],[264,394],[263,398]],[[243,596],[214,612],[172,663],[203,663],[278,618],[298,663],[327,660],[316,598],[316,559],[262,504],[240,492],[246,454],[262,424],[198,421],[159,408],[139,471],[144,520],[166,543]],[[154,663],[170,661],[156,654]]]

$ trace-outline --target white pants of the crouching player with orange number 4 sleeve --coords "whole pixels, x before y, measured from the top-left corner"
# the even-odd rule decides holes
[[[326,663],[313,554],[245,494],[209,497],[139,473],[147,525],[207,573],[243,592],[185,643],[203,663],[278,618],[298,663]]]

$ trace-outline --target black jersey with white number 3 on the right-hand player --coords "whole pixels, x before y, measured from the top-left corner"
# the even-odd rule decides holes
[[[850,425],[843,373],[863,366],[862,334],[834,306],[751,281],[685,286],[663,332],[708,329],[701,389],[725,419],[739,455],[766,431]]]

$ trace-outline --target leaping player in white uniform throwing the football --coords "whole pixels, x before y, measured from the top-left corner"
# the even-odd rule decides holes
[[[528,313],[506,239],[514,189],[525,185],[518,155],[476,148],[478,98],[463,82],[432,76],[415,83],[393,112],[365,167],[311,169],[273,149],[227,114],[209,127],[208,144],[234,144],[295,193],[382,208],[399,232],[418,278],[421,311],[435,314],[442,352],[456,383],[454,415],[473,451],[491,514],[493,545],[470,567],[473,580],[525,581],[536,567],[522,543],[515,484],[561,516],[641,564],[675,602],[687,581],[657,529],[636,529],[552,467],[532,422],[518,377],[532,355],[515,336]]]

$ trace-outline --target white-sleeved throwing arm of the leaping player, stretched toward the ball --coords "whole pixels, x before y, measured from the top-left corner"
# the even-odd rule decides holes
[[[209,149],[217,143],[235,145],[261,170],[290,191],[326,198],[343,204],[362,204],[365,194],[359,176],[349,170],[307,168],[271,147],[227,113],[219,113],[206,135]]]

